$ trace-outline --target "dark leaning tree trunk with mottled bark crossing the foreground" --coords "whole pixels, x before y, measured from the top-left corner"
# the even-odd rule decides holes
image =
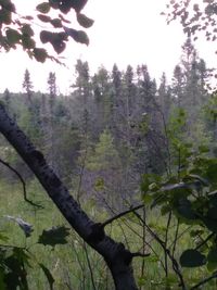
[[[28,137],[10,118],[2,104],[0,104],[0,133],[29,166],[69,225],[104,257],[116,290],[137,289],[131,267],[132,253],[126,250],[123,243],[115,242],[107,237],[101,224],[95,224],[87,216],[48,165],[43,154],[36,150]]]

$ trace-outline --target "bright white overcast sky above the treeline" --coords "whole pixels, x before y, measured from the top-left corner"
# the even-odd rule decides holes
[[[69,41],[67,49],[61,54],[65,67],[51,61],[37,63],[22,49],[0,53],[0,92],[5,88],[22,91],[24,72],[28,68],[36,91],[46,92],[49,72],[55,72],[60,92],[69,93],[78,59],[88,61],[91,74],[102,65],[111,71],[114,63],[119,70],[125,70],[128,64],[133,67],[146,64],[151,77],[156,80],[163,72],[170,78],[175,65],[179,63],[186,36],[181,25],[176,22],[167,25],[165,16],[161,15],[168,1],[135,0],[132,4],[131,0],[89,0],[82,13],[94,20],[93,26],[87,29],[90,45],[87,47]],[[17,2],[20,13],[33,14],[36,4],[42,0],[14,2]],[[73,12],[71,16],[74,20]],[[40,29],[37,23],[33,25]],[[72,25],[78,28],[76,22],[73,21]],[[49,46],[46,47],[48,50]],[[213,67],[216,58],[210,45],[201,39],[195,47],[200,56]]]

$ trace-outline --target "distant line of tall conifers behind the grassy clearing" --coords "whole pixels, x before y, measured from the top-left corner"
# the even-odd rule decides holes
[[[138,198],[142,174],[183,165],[181,147],[180,156],[174,147],[208,144],[215,153],[216,101],[205,87],[209,73],[187,39],[173,79],[163,74],[158,86],[146,65],[119,71],[114,64],[112,72],[100,67],[91,76],[88,62],[78,60],[71,96],[56,93],[54,73],[48,93],[35,92],[26,70],[25,92],[5,90],[1,100],[78,199],[94,196],[113,209]],[[31,178],[3,139],[0,149],[2,160]],[[0,175],[15,180],[7,167]]]

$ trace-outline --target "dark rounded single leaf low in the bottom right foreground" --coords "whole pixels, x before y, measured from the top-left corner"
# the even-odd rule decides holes
[[[180,256],[182,267],[200,267],[206,264],[206,257],[194,249],[186,250]]]

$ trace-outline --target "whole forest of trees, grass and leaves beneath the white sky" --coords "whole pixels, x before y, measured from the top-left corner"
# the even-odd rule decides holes
[[[215,289],[215,70],[188,35],[171,79],[82,60],[72,76],[67,96],[55,72],[40,92],[26,67],[0,93],[0,289]]]

